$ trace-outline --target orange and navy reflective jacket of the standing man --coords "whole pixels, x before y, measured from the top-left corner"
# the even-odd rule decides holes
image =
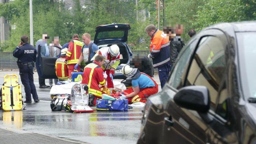
[[[150,51],[154,68],[170,63],[170,41],[158,29],[151,38]]]

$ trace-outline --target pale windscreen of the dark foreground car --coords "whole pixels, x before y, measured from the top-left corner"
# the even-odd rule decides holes
[[[238,32],[240,79],[245,98],[256,98],[256,32]]]

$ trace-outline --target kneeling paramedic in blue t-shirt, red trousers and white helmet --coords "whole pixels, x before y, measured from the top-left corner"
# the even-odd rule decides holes
[[[118,100],[128,99],[129,104],[136,102],[146,103],[149,96],[158,92],[157,83],[150,76],[140,72],[137,68],[130,68],[129,65],[125,65],[122,68],[122,73],[132,79],[133,92],[126,96],[121,94],[120,97],[117,97]]]

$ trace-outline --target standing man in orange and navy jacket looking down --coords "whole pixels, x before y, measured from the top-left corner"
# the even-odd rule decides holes
[[[168,80],[170,72],[170,41],[165,37],[164,32],[156,29],[154,25],[148,25],[145,28],[147,34],[151,37],[150,51],[148,57],[152,58],[153,67],[158,68],[161,88]]]

